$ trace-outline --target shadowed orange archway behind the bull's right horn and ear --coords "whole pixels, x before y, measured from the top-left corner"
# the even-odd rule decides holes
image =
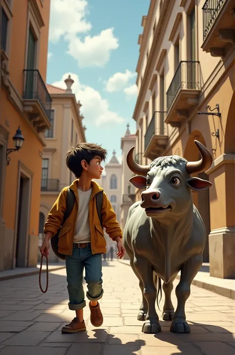
[[[185,146],[185,150],[184,150],[184,155],[183,155],[183,157],[185,159],[187,159],[187,161],[197,161],[201,158],[200,153],[197,149],[197,146],[194,143],[194,139],[201,142],[206,147],[205,139],[204,139],[203,135],[201,134],[201,132],[197,131],[197,130],[191,132],[191,134],[188,137],[188,140],[187,140],[187,143]],[[199,177],[204,180],[209,180],[208,175],[206,175],[205,173],[192,174],[192,176]],[[204,263],[209,262],[209,238],[208,238],[208,236],[211,231],[211,227],[210,227],[210,197],[209,197],[210,195],[209,194],[210,194],[209,188],[206,191],[193,192],[193,203],[196,206],[196,208],[198,209],[198,211],[203,219],[203,222],[205,224],[205,227],[206,227],[206,245],[205,245],[204,252],[203,252],[203,262]]]

